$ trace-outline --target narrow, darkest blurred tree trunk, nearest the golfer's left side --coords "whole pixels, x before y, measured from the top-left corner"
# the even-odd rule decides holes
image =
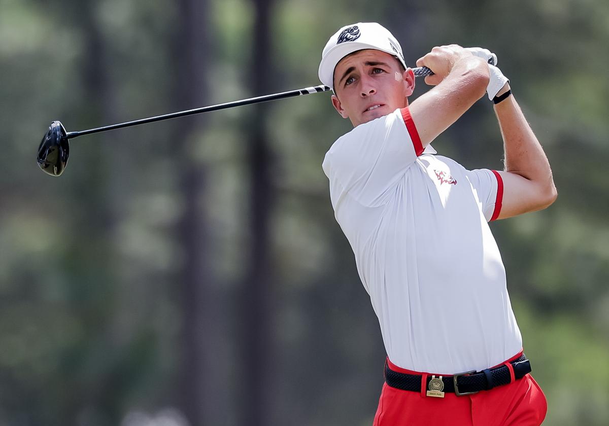
[[[253,34],[252,93],[254,96],[269,92],[272,69],[270,55],[270,18],[272,1],[254,0],[256,21]],[[269,261],[269,218],[273,205],[273,188],[270,181],[272,159],[265,130],[269,104],[253,108],[253,116],[246,132],[247,166],[250,177],[248,260],[242,292],[242,339],[240,354],[242,372],[241,424],[267,426],[272,414],[273,395],[273,340],[272,340],[272,265]]]

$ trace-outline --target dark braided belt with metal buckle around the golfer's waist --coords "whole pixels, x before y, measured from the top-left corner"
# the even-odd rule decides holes
[[[514,371],[514,379],[522,379],[524,375],[531,372],[529,360],[523,355],[516,360],[510,361]],[[512,382],[512,374],[507,365],[496,368],[487,368],[483,371],[468,371],[454,375],[427,375],[425,388],[429,389],[428,396],[444,396],[444,392],[455,393],[457,396],[488,391],[496,386],[507,385]],[[406,374],[393,371],[385,361],[385,382],[392,388],[404,391],[421,391],[423,375]],[[431,383],[431,385],[430,385]],[[430,394],[430,391],[431,394]],[[440,394],[434,394],[434,392]]]

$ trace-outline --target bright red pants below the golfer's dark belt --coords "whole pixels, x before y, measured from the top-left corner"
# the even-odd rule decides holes
[[[421,374],[387,362],[393,371]],[[546,411],[546,397],[530,374],[490,391],[465,396],[445,393],[443,398],[384,383],[373,426],[538,426]]]

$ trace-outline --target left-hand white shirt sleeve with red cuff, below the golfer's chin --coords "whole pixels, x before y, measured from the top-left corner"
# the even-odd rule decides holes
[[[331,181],[367,206],[385,195],[423,153],[408,108],[361,124],[339,138],[323,161]]]

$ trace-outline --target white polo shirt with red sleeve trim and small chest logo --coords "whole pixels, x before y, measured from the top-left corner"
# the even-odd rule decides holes
[[[522,349],[487,223],[503,184],[435,153],[403,108],[337,139],[323,170],[392,363],[479,371]]]

